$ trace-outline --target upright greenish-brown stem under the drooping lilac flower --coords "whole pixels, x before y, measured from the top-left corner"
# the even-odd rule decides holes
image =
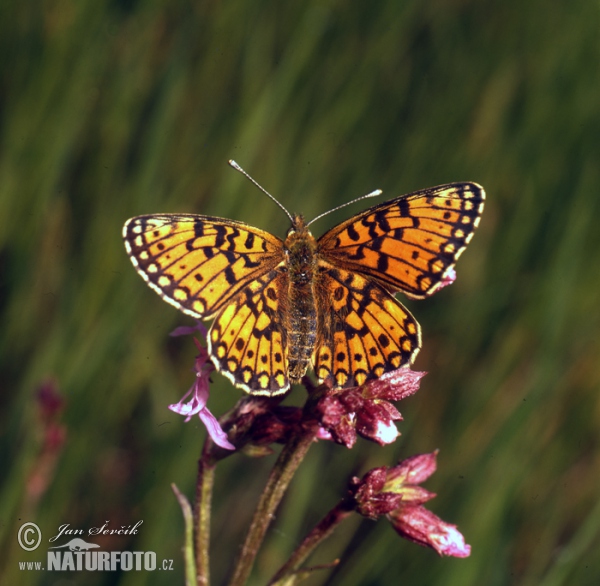
[[[208,453],[209,442],[210,440],[207,439],[202,456],[198,460],[196,502],[194,503],[194,545],[197,586],[208,586],[210,582],[208,547],[210,541],[210,509],[215,478],[215,464]]]

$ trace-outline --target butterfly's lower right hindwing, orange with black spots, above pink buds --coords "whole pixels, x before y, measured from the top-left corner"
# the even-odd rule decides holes
[[[421,347],[419,324],[376,282],[322,263],[317,345],[312,362],[320,382],[362,385],[412,362]]]

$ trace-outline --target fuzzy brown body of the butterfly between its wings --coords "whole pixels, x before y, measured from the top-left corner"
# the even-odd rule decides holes
[[[317,338],[315,275],[317,242],[302,216],[295,216],[284,242],[288,274],[287,323],[289,377],[299,381],[310,364]]]

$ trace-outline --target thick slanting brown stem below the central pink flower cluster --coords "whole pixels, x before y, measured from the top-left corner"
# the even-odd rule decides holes
[[[300,432],[293,436],[281,450],[254,512],[246,540],[242,545],[233,576],[229,582],[230,586],[243,586],[248,580],[256,554],[274,518],[275,510],[314,437],[313,431]]]

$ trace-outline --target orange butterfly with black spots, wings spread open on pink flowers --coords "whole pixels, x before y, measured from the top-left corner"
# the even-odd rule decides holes
[[[374,205],[319,239],[312,222],[277,200],[291,221],[284,240],[195,214],[137,216],[123,238],[134,267],[165,301],[196,319],[214,318],[208,351],[235,386],[279,395],[312,367],[319,382],[345,389],[412,364],[421,330],[394,294],[423,299],[445,284],[484,199],[476,183],[423,189]]]

